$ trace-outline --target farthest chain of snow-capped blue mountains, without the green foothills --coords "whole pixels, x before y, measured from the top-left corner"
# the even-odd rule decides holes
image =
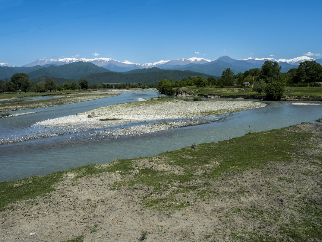
[[[192,57],[192,58],[182,58],[178,60],[160,60],[158,62],[154,63],[133,63],[130,61],[117,61],[111,58],[94,58],[94,59],[86,59],[86,58],[60,58],[60,59],[50,59],[50,60],[36,60],[32,63],[26,64],[22,67],[33,67],[33,66],[43,66],[48,67],[50,65],[54,66],[61,66],[69,63],[74,62],[90,62],[95,64],[99,67],[104,67],[106,69],[109,69],[111,71],[117,71],[117,72],[126,72],[131,71],[134,69],[142,69],[142,68],[152,68],[152,67],[158,67],[160,69],[175,69],[175,70],[193,70],[198,72],[204,72],[207,70],[207,72],[204,72],[209,75],[214,75],[211,71],[212,69],[218,69],[215,67],[211,67],[211,65],[220,65],[220,66],[238,66],[238,68],[235,71],[243,71],[244,69],[250,69],[250,68],[260,68],[261,65],[265,61],[277,61],[280,66],[282,66],[283,71],[287,72],[291,68],[297,68],[297,65],[306,60],[316,60],[318,63],[322,64],[322,59],[314,59],[308,56],[299,56],[293,59],[274,59],[274,58],[247,58],[242,60],[235,60],[230,58],[229,56],[221,56],[215,60],[207,60],[204,58],[198,58],[198,57]],[[204,66],[206,65],[206,66]],[[10,64],[1,63],[0,66],[9,66],[13,67]],[[201,66],[204,66],[203,68]],[[294,66],[294,67],[293,67]],[[222,68],[220,67],[220,69]],[[16,68],[16,67],[15,67]],[[219,69],[218,69],[219,70]],[[209,72],[209,73],[208,73]],[[216,75],[219,75],[216,73]]]

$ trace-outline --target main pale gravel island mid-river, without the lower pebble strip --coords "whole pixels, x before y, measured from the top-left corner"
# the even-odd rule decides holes
[[[76,115],[48,119],[36,123],[40,126],[95,126],[106,127],[128,122],[183,119],[221,115],[224,113],[266,106],[249,101],[196,101],[176,99],[150,100],[147,102],[122,103],[92,109]],[[100,121],[99,119],[109,119]],[[116,120],[113,120],[116,119]]]

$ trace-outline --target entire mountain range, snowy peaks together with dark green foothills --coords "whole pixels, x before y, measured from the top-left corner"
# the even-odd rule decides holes
[[[277,61],[279,65],[282,66],[282,72],[287,72],[291,68],[297,68],[300,62],[306,60],[315,60],[322,64],[322,59],[314,59],[308,56],[300,56],[293,59],[248,58],[242,60],[235,60],[229,56],[221,56],[215,60],[193,57],[189,59],[161,60],[159,62],[145,64],[132,63],[129,61],[120,62],[111,58],[63,58],[37,60],[21,67],[0,63],[0,79],[10,78],[17,72],[23,72],[27,73],[31,80],[42,76],[68,80],[86,77],[89,79],[90,83],[109,83],[136,82],[137,79],[140,78],[135,76],[141,75],[145,77],[149,76],[148,79],[143,78],[142,80],[138,81],[141,83],[146,83],[147,80],[157,82],[155,81],[156,79],[177,80],[177,78],[189,75],[189,72],[193,72],[190,73],[191,76],[199,75],[203,77],[218,77],[222,75],[222,72],[226,68],[230,68],[235,74],[237,74],[238,72],[245,72],[251,68],[260,68],[267,60]],[[152,70],[151,68],[153,67],[157,68]],[[145,71],[142,72],[139,70]],[[169,70],[172,70],[173,72]],[[130,73],[130,71],[134,72]],[[183,73],[177,71],[188,72]],[[121,77],[122,74],[126,75],[126,77]],[[131,78],[134,78],[135,80],[128,79],[131,75]],[[171,75],[173,75],[173,77]],[[115,79],[112,80],[111,78]]]

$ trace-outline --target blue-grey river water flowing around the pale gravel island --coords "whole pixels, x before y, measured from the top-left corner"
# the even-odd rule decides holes
[[[33,132],[32,124],[37,121],[155,96],[158,96],[155,91],[125,93],[62,106],[10,112],[37,113],[1,118],[0,139]],[[219,122],[158,133],[106,139],[90,136],[89,132],[81,132],[0,145],[0,181],[44,176],[72,167],[107,163],[116,158],[153,156],[193,144],[242,136],[249,131],[277,129],[301,122],[317,123],[314,120],[322,117],[322,105],[319,102],[256,102],[266,103],[267,106],[225,115]]]

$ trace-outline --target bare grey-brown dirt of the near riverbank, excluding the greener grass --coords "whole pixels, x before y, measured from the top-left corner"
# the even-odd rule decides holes
[[[321,125],[300,126],[301,130],[289,129],[299,136],[306,131],[322,136]],[[190,205],[180,210],[144,207],[142,197],[153,191],[144,184],[111,189],[115,182],[133,179],[137,170],[126,175],[99,173],[78,179],[70,173],[54,186],[56,191],[10,204],[11,209],[1,212],[0,241],[58,242],[79,236],[84,236],[84,241],[138,241],[142,228],[147,230],[146,241],[243,241],[243,231],[279,237],[281,221],[299,216],[290,208],[297,207],[304,195],[308,201],[314,199],[322,205],[319,161],[298,158],[299,154],[322,155],[322,140],[315,138],[311,142],[317,149],[298,150],[293,162],[270,162],[268,169],[222,174],[211,182],[213,196],[195,198],[198,189],[177,194],[176,201]],[[183,172],[181,167],[164,165],[162,159],[156,158],[138,159],[134,166]],[[200,170],[205,171],[204,167]],[[182,187],[202,188],[206,182],[195,179]],[[150,196],[162,199],[169,192],[182,189],[175,183],[167,185],[168,189]]]

